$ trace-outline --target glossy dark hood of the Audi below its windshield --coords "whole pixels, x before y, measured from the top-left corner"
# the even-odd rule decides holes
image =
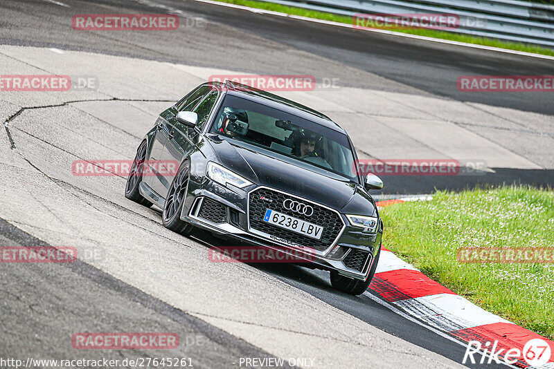
[[[277,155],[251,149],[251,145],[242,142],[231,144],[226,140],[217,139],[208,142],[224,167],[257,185],[292,193],[339,211],[346,205],[347,208],[354,205],[358,210],[356,214],[373,215],[374,208],[370,197],[360,191],[355,183],[304,169],[287,162],[286,158],[280,160]],[[363,212],[359,212],[362,210]]]

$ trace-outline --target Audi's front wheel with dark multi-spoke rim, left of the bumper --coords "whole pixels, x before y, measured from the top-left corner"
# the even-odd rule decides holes
[[[173,178],[171,186],[166,196],[166,202],[163,204],[161,214],[161,223],[163,227],[171,229],[178,234],[188,236],[193,232],[194,226],[181,220],[181,211],[185,203],[186,191],[188,188],[189,164],[184,162],[177,171],[177,176]]]

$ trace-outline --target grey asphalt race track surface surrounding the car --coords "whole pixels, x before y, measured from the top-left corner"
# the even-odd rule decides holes
[[[382,193],[552,185],[554,94],[461,93],[456,78],[554,75],[554,60],[196,1],[5,0],[0,8],[2,75],[98,82],[63,93],[0,91],[0,244],[74,246],[81,255],[66,265],[0,264],[0,357],[188,357],[197,368],[268,357],[310,359],[314,368],[461,366],[461,343],[369,292],[335,292],[327,272],[211,263],[208,247],[222,241],[172,233],[158,209],[123,197],[125,178],[74,176],[71,163],[132,159],[157,114],[210,75],[308,74],[319,82],[314,91],[282,95],[339,122],[360,158],[481,164],[460,176],[384,176]],[[181,28],[71,28],[75,14],[137,12],[177,14]],[[323,86],[330,79],[337,85]],[[169,353],[76,350],[76,332],[175,332],[181,345]]]

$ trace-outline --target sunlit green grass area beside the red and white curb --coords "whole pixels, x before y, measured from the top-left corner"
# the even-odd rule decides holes
[[[438,192],[384,207],[385,247],[494,314],[554,339],[554,264],[458,263],[458,247],[553,247],[554,192]]]

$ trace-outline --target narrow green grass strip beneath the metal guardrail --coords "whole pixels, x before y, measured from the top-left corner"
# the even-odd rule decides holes
[[[336,21],[340,23],[352,24],[352,17],[346,17],[344,15],[334,15],[328,12],[319,12],[316,10],[307,10],[303,8],[296,8],[293,6],[284,6],[275,3],[266,3],[263,1],[253,0],[217,0],[222,3],[233,3],[242,6],[249,6],[251,8],[258,8],[264,10],[272,10],[274,12],[283,12],[290,15],[301,15],[303,17],[323,19],[325,21]],[[541,46],[534,46],[529,44],[519,44],[515,42],[499,41],[497,39],[489,39],[485,37],[474,37],[469,35],[460,35],[452,32],[445,32],[440,30],[425,30],[425,29],[395,29],[394,32],[404,32],[411,35],[420,35],[427,37],[434,37],[436,39],[447,39],[451,41],[466,42],[468,44],[476,44],[483,46],[494,46],[497,48],[506,48],[510,50],[524,51],[526,53],[535,53],[542,55],[554,56],[554,50],[549,48],[543,48]]]

